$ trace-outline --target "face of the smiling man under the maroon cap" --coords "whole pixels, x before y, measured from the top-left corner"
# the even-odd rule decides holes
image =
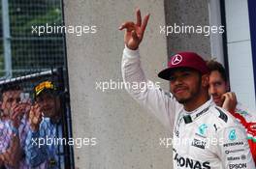
[[[201,91],[201,75],[196,70],[178,69],[170,76],[171,93],[179,103],[196,99]]]

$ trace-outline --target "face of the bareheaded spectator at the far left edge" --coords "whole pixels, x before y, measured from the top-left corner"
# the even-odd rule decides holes
[[[4,112],[4,115],[10,116],[12,114],[12,107],[15,107],[16,104],[20,101],[21,90],[7,91],[2,95],[2,105],[1,108]]]

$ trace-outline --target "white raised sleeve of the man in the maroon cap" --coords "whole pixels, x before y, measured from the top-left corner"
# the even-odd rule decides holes
[[[146,80],[141,68],[139,49],[124,48],[122,77],[126,90],[133,99],[148,109],[165,127],[174,127],[176,99],[153,82]]]

